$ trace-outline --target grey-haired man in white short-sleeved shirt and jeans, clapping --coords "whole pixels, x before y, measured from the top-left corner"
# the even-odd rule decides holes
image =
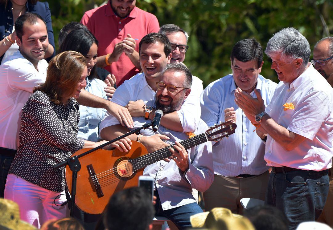
[[[236,103],[267,134],[264,159],[272,167],[265,203],[282,210],[290,229],[314,221],[329,189],[333,153],[333,91],[309,61],[310,45],[294,28],[268,41],[265,53],[280,80],[265,108],[257,98],[236,89]]]

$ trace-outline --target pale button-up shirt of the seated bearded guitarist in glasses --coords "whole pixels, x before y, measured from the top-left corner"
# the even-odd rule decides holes
[[[118,90],[118,89],[117,89]],[[153,105],[153,101],[148,102]],[[144,117],[133,117],[134,128],[142,127],[147,123]],[[200,119],[194,134],[204,133],[207,125]],[[167,143],[173,145],[175,141],[188,139],[188,136],[181,132],[171,131],[160,125],[157,133],[166,135],[170,139]],[[144,136],[153,136],[156,133],[152,127],[141,130]],[[214,179],[211,142],[197,145],[188,151],[189,169],[184,175],[176,163],[159,161],[149,165],[144,170],[144,175],[155,178],[154,190],[159,192],[163,210],[179,207],[185,204],[198,202],[198,191],[207,190]]]

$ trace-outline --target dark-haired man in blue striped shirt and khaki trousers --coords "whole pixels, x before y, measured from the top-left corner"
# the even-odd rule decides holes
[[[256,128],[236,105],[234,95],[237,87],[252,96],[254,89],[259,89],[265,105],[269,104],[277,84],[259,75],[262,59],[262,47],[255,39],[237,42],[230,57],[232,74],[210,83],[201,93],[201,119],[208,126],[231,119],[237,124],[229,139],[212,143],[215,175],[203,193],[207,211],[225,207],[242,213],[241,198],[265,199],[269,179],[264,161],[265,136],[253,132]]]

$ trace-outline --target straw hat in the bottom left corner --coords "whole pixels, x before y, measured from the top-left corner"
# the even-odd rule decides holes
[[[0,230],[36,230],[20,219],[19,205],[14,201],[0,198]]]

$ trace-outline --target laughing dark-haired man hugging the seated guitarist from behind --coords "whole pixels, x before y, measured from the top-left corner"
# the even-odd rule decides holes
[[[147,120],[153,120],[153,111],[156,108],[146,105],[146,102],[154,100],[157,82],[170,59],[171,45],[167,37],[160,33],[146,35],[140,42],[140,64],[143,73],[138,73],[119,86],[112,97],[112,102],[126,106],[132,117],[145,117]],[[165,114],[161,119],[161,125],[177,132],[193,132],[199,120],[199,113],[193,113],[197,110],[193,100],[198,100],[198,98],[186,98],[179,110]],[[104,118],[100,124],[101,137],[105,140],[112,140],[110,126],[116,124],[119,122],[113,116]],[[165,136],[157,135],[154,138],[156,138],[156,145],[150,141],[146,143],[149,151],[165,147],[166,144],[162,141]],[[143,142],[145,141],[143,140]]]

